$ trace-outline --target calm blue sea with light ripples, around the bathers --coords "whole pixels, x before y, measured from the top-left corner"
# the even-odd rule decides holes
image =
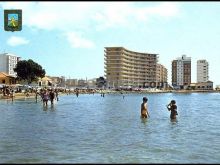
[[[0,100],[0,163],[220,163],[220,94],[64,95],[47,108]]]

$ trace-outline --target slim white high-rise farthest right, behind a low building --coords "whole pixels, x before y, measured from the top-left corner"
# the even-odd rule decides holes
[[[209,80],[209,63],[206,60],[197,60],[197,82]]]

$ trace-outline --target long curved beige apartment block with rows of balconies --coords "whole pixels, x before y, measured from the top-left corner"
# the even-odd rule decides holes
[[[157,55],[124,47],[105,47],[107,87],[156,87]]]

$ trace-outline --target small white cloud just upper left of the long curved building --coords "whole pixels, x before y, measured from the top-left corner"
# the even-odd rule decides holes
[[[65,34],[67,40],[73,48],[93,48],[94,43],[88,39],[83,38],[81,34],[76,32],[68,32]]]

